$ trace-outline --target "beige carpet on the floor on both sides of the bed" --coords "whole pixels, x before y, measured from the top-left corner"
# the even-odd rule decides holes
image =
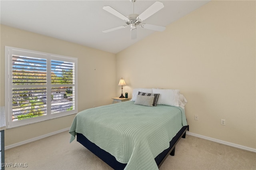
[[[80,143],[69,143],[62,132],[5,151],[5,163],[24,164],[24,170],[111,170]],[[176,145],[160,170],[256,170],[256,153],[187,135]]]

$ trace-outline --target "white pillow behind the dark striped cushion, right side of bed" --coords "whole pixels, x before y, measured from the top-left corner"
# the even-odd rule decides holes
[[[179,94],[178,89],[153,89],[153,93],[159,93],[157,105],[179,106]]]

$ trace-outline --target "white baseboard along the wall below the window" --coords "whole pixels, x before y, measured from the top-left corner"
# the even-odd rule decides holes
[[[49,136],[52,136],[54,134],[58,134],[58,133],[61,133],[61,132],[65,132],[65,131],[68,131],[70,129],[69,128],[64,128],[64,129],[61,129],[61,130],[57,130],[55,132],[51,132],[51,133],[48,133],[48,134],[44,134],[42,136],[38,136],[38,137],[35,137],[35,138],[31,138],[31,139],[28,139],[28,140],[24,140],[22,142],[18,142],[18,143],[15,143],[15,144],[11,144],[11,145],[8,145],[8,146],[5,146],[4,147],[4,150],[7,150],[7,149],[10,149],[10,148],[14,148],[16,146],[20,146],[22,144],[27,144],[27,143],[30,143],[30,142],[34,142],[36,140],[39,140],[39,139],[42,139],[42,138],[46,138],[46,137],[49,137]]]

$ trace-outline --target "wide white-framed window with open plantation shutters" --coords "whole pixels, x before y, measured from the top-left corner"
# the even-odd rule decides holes
[[[77,113],[77,59],[5,47],[7,128]]]

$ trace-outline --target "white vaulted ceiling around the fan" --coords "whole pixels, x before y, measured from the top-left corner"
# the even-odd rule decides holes
[[[168,26],[196,10],[209,0],[159,0],[164,8],[144,23]],[[136,0],[134,13],[141,14],[155,0]],[[74,42],[104,51],[118,53],[122,49],[154,33],[137,28],[131,40],[130,27],[113,32],[102,30],[125,25],[120,18],[103,10],[111,6],[124,16],[132,14],[130,0],[0,0],[1,24],[38,34]]]

